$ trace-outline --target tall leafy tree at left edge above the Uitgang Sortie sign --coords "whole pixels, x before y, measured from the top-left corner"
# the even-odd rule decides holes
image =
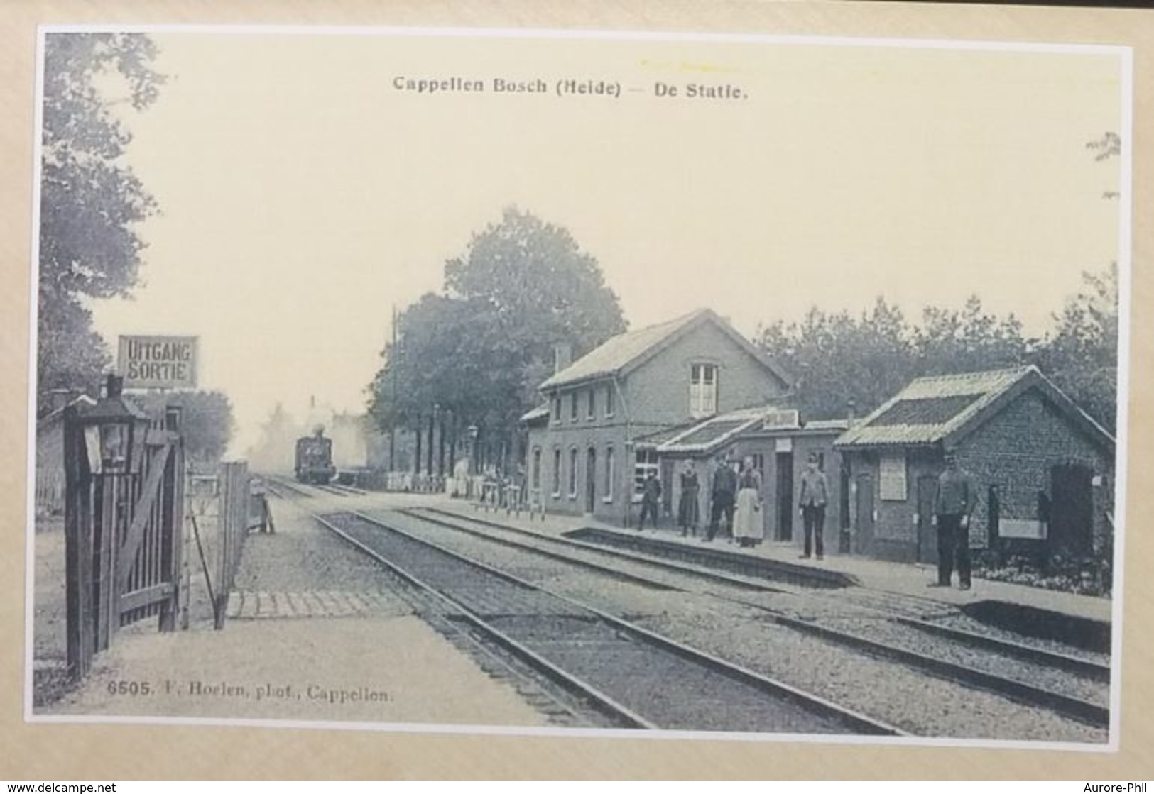
[[[164,77],[156,45],[138,33],[50,33],[45,39],[40,180],[38,401],[55,387],[91,390],[107,365],[83,298],[128,295],[143,241],[135,225],[157,210],[123,164],[132,135],[114,103],[136,111]],[[110,100],[99,86],[119,78]]]

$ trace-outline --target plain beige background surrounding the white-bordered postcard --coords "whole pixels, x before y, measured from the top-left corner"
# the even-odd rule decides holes
[[[619,7],[621,6],[621,7]],[[1151,717],[1154,588],[1145,577],[1154,540],[1141,494],[1151,476],[1141,449],[1151,417],[1151,168],[1144,157],[1154,94],[1154,13],[1134,10],[928,7],[901,3],[698,2],[563,3],[170,2],[8,0],[0,6],[0,778],[293,777],[1154,777]],[[28,294],[32,187],[32,92],[38,23],[262,22],[420,24],[1079,41],[1136,47],[1134,318],[1131,342],[1130,483],[1126,535],[1123,726],[1118,754],[921,747],[447,736],[143,725],[24,725],[24,460],[27,459]],[[1142,43],[1147,44],[1142,44]],[[879,273],[879,277],[884,275]]]

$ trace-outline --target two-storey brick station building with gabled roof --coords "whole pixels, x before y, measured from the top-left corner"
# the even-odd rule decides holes
[[[571,363],[562,355],[540,386],[545,404],[522,417],[530,499],[547,512],[628,525],[650,471],[662,482],[665,504],[674,498],[673,459],[662,463],[658,449],[662,436],[772,404],[790,385],[707,309],[619,334]]]

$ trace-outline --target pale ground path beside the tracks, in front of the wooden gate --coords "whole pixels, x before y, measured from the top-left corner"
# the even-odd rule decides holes
[[[247,538],[223,630],[121,630],[83,687],[37,713],[545,724],[412,614],[376,564],[291,504],[271,505],[277,532]]]

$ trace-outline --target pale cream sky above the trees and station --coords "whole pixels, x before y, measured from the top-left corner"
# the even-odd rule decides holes
[[[632,328],[710,307],[752,335],[882,295],[975,293],[1033,334],[1119,254],[1102,53],[155,32],[168,80],[125,162],[162,214],[97,330],[200,336],[233,454],[277,402],[361,410],[392,307],[515,205],[592,254]],[[484,81],[434,93],[417,80]],[[493,90],[494,78],[544,93]],[[559,81],[620,96],[557,94]],[[677,96],[657,96],[658,83]],[[688,97],[690,84],[740,98]],[[127,107],[127,106],[121,106]]]

